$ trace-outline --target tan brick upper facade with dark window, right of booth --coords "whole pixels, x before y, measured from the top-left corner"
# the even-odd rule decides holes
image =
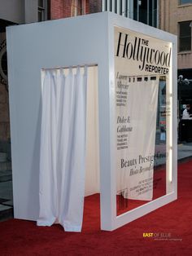
[[[178,36],[178,74],[192,79],[192,0],[160,0],[159,29]]]

